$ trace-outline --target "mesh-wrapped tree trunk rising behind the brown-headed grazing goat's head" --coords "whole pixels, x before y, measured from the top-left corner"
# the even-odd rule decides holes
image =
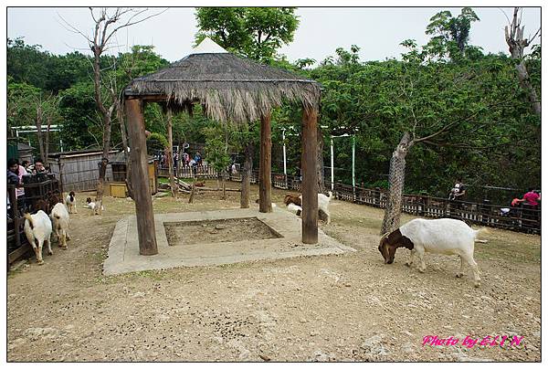
[[[388,202],[385,208],[381,235],[384,235],[386,232],[392,232],[399,227],[400,216],[402,214],[402,196],[406,181],[406,155],[413,143],[409,132],[405,132],[392,154],[390,172],[388,174]]]

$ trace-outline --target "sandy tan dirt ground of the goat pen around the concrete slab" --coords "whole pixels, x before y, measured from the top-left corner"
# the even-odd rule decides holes
[[[282,206],[285,194],[274,190],[273,201]],[[77,194],[68,250],[54,243],[43,266],[32,258],[8,274],[10,362],[541,360],[539,236],[490,229],[489,243],[476,246],[476,289],[471,270],[455,278],[458,257],[427,255],[421,274],[398,250],[384,265],[382,210],[333,200],[332,224],[321,228],[357,252],[104,277],[112,231],[134,205],[109,197],[92,216],[82,207],[88,195]],[[158,213],[234,208],[238,195],[153,205]],[[460,341],[423,346],[427,335]],[[466,335],[524,338],[468,349]]]

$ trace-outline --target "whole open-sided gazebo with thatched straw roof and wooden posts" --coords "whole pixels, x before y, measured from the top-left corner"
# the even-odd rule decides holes
[[[168,111],[192,111],[201,104],[208,118],[244,124],[260,120],[259,211],[269,213],[270,114],[283,100],[300,102],[302,115],[302,241],[318,242],[316,174],[317,117],[320,85],[288,71],[238,58],[209,38],[194,52],[153,74],[133,79],[124,91],[131,142],[132,183],[142,255],[157,253],[153,203],[146,181],[144,102],[164,103]],[[168,131],[171,126],[168,124]],[[168,132],[169,135],[169,132]],[[244,194],[242,194],[244,195]]]

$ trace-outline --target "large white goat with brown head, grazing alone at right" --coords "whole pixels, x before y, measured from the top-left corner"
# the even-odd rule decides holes
[[[386,233],[379,242],[379,251],[385,258],[385,264],[394,262],[396,248],[411,250],[406,266],[411,267],[418,258],[420,272],[425,272],[425,251],[458,255],[460,257],[460,271],[457,278],[464,275],[466,261],[474,273],[474,285],[479,287],[479,269],[474,260],[474,242],[483,228],[474,230],[466,223],[457,219],[413,219],[391,233]]]

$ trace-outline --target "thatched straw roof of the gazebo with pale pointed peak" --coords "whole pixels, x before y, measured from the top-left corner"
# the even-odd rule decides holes
[[[209,118],[234,122],[255,121],[284,99],[318,107],[317,82],[238,58],[207,38],[205,43],[208,47],[200,44],[186,58],[133,79],[126,97],[158,96],[179,107],[201,103]]]

